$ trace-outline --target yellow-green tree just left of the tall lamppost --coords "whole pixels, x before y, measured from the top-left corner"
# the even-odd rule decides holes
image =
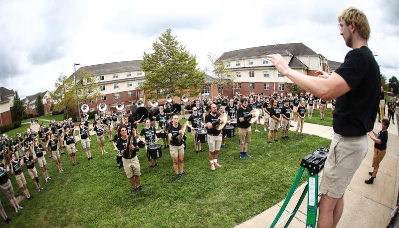
[[[50,93],[51,99],[56,101],[54,110],[64,111],[65,117],[70,117],[73,107],[76,107],[75,83],[73,78],[68,78],[61,73],[55,81],[55,90]]]

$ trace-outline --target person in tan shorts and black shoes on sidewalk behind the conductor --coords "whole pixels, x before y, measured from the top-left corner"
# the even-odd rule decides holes
[[[383,160],[385,153],[387,152],[387,142],[388,142],[388,127],[390,126],[390,121],[387,118],[384,118],[381,123],[382,130],[378,132],[374,132],[372,130],[374,136],[369,133],[370,138],[374,141],[374,157],[372,167],[373,172],[369,172],[371,178],[366,180],[366,184],[373,184],[374,178],[377,176],[378,168],[380,167],[380,162]]]

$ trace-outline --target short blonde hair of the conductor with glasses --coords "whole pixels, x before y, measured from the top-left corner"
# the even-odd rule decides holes
[[[364,12],[354,6],[343,9],[338,13],[338,22],[341,19],[345,21],[346,25],[349,25],[353,21],[356,25],[357,31],[360,36],[369,40],[370,39],[370,24]]]

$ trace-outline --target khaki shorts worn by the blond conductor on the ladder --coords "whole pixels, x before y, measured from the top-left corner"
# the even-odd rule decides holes
[[[366,156],[368,141],[367,135],[345,137],[334,133],[320,182],[322,194],[336,199],[342,197]]]

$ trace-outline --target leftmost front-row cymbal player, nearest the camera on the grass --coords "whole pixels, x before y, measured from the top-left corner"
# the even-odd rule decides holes
[[[119,126],[118,134],[120,138],[116,142],[116,146],[122,154],[123,168],[133,187],[132,194],[135,194],[137,190],[144,191],[140,186],[140,163],[139,158],[136,156],[136,152],[139,151],[139,146],[137,145],[136,138],[130,136],[130,140],[133,140],[133,145],[129,148],[128,128],[124,124]]]

